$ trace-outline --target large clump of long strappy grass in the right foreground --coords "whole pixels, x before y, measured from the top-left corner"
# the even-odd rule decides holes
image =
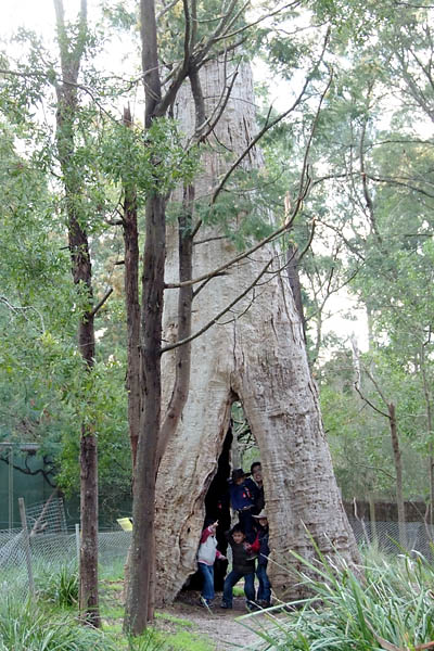
[[[318,552],[318,550],[317,550]],[[353,571],[293,554],[302,563],[299,582],[307,599],[267,611],[260,623],[243,618],[273,651],[418,651],[434,640],[434,566],[420,554],[365,556]]]

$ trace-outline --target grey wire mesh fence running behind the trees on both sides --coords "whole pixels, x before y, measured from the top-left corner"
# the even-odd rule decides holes
[[[356,540],[360,546],[375,546],[380,551],[397,554],[405,549],[432,559],[431,541],[434,527],[420,522],[369,522],[350,520]],[[403,534],[405,540],[403,540]],[[400,537],[401,536],[401,537]],[[28,540],[28,542],[26,542]],[[123,565],[126,561],[131,533],[125,531],[100,532],[98,536],[101,570]],[[78,566],[79,539],[76,533],[37,534],[27,539],[21,529],[0,532],[0,590],[3,597],[14,595],[22,599],[29,593],[29,560],[35,591],[43,578],[62,567]]]

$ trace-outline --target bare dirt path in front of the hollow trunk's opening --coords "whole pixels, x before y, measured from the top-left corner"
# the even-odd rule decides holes
[[[240,617],[247,615],[245,601],[243,597],[234,597],[233,610],[224,610],[220,608],[221,593],[216,593],[214,605],[210,613],[207,609],[199,605],[200,592],[186,591],[181,592],[177,601],[168,608],[164,609],[165,613],[192,622],[193,628],[189,628],[191,633],[206,637],[210,643],[214,643],[214,651],[234,651],[235,649],[253,650],[258,648],[260,638],[246,626],[255,627],[258,618],[263,620],[261,615],[254,617],[244,617],[241,622]],[[157,618],[157,628],[170,630],[170,622],[165,618]]]

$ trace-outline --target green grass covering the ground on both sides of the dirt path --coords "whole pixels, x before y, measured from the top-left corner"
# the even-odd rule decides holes
[[[414,651],[434,640],[434,566],[423,557],[365,552],[362,572],[343,561],[331,564],[294,554],[297,580],[309,598],[285,608],[248,614],[240,622],[257,635],[263,651]],[[35,605],[7,601],[0,607],[0,651],[212,651],[214,644],[194,633],[189,620],[158,613],[169,631],[149,628],[128,638],[122,629],[123,584],[117,570],[101,582],[103,630],[80,626],[75,617],[74,567],[38,576],[42,600]],[[115,577],[114,577],[115,576]],[[242,587],[238,587],[243,593]],[[218,626],[218,623],[216,624]],[[253,647],[252,647],[253,651]],[[434,651],[434,649],[433,649]]]

